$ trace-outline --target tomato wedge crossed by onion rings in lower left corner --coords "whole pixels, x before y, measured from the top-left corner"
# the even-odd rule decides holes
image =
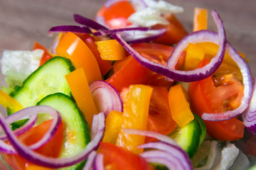
[[[25,145],[33,145],[38,140],[41,140],[43,135],[48,131],[53,120],[46,120],[40,125],[31,128],[30,130],[24,132],[22,135],[18,136],[18,140],[23,142]],[[52,140],[50,140],[46,145],[35,150],[46,157],[58,157],[60,154],[61,144],[63,143],[63,123],[60,123],[58,130],[55,132]],[[18,154],[2,154],[4,160],[14,169],[22,170],[26,169],[30,162],[23,159],[23,157]],[[35,165],[36,166],[36,165]]]

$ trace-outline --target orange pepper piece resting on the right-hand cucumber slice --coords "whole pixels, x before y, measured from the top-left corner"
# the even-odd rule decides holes
[[[181,128],[190,123],[194,118],[187,98],[186,90],[181,84],[171,86],[169,89],[171,118],[173,118]]]

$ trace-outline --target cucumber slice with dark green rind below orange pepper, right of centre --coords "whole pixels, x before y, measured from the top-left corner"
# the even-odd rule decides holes
[[[199,125],[197,118],[194,118],[185,127],[177,127],[169,137],[173,138],[192,158],[201,145],[201,139],[204,138],[202,134],[201,125]]]

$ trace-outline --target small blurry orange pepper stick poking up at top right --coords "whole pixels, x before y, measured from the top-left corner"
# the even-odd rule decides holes
[[[193,16],[193,31],[207,30],[208,10],[205,8],[195,8]]]

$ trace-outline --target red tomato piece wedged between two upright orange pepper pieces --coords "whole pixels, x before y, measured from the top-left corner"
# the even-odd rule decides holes
[[[169,108],[168,91],[165,87],[152,86],[153,92],[149,104],[149,120],[147,130],[169,135],[176,127],[176,122],[171,118]],[[154,141],[151,137],[146,137],[146,142]]]

